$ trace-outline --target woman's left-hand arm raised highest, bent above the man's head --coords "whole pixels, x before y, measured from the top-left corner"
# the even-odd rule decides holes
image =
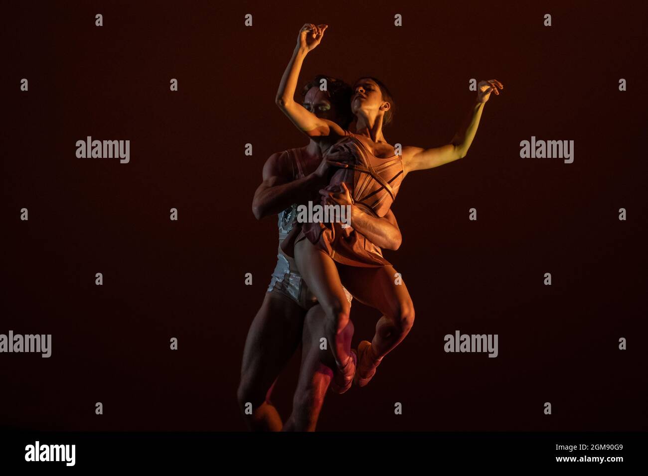
[[[281,109],[288,119],[290,119],[300,131],[303,131],[309,137],[327,136],[327,135],[344,135],[344,131],[338,124],[326,119],[319,119],[312,112],[295,102],[295,88],[297,87],[297,79],[299,78],[299,71],[304,62],[304,58],[309,51],[317,47],[322,37],[324,30],[329,25],[319,25],[316,27],[312,23],[306,23],[297,37],[297,46],[290,58],[286,71],[279,83],[277,90],[277,97],[275,102],[279,109]]]

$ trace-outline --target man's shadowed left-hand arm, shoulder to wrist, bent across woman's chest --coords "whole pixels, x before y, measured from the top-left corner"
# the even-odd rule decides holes
[[[305,201],[313,190],[324,187],[328,164],[322,161],[317,170],[294,180],[293,166],[286,152],[273,153],[263,166],[263,181],[252,200],[252,212],[257,220],[273,215]]]

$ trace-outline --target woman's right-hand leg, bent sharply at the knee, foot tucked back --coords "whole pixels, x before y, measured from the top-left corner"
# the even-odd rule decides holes
[[[393,266],[339,266],[338,269],[344,286],[354,297],[383,313],[371,344],[364,341],[358,346],[355,380],[363,387],[373,377],[382,357],[410,332],[414,324],[414,305],[405,283],[395,284]]]

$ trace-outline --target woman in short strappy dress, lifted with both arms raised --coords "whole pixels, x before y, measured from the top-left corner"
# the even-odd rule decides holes
[[[503,85],[497,80],[480,82],[470,116],[449,144],[430,149],[404,146],[402,155],[396,155],[382,133],[382,127],[391,120],[393,99],[375,78],[360,78],[354,85],[351,109],[356,116],[355,133],[319,119],[295,103],[301,64],[308,52],[319,45],[326,28],[328,25],[316,27],[310,23],[301,28],[292,59],[281,78],[276,103],[299,130],[319,144],[325,159],[341,167],[327,190],[322,191],[325,200],[330,199],[327,194],[337,191],[334,203],[362,205],[365,211],[383,216],[409,172],[465,157],[483,105],[492,91],[499,95],[498,87],[502,89]],[[342,229],[339,223],[307,223],[292,238],[297,267],[326,313],[327,338],[333,343],[331,350],[337,366],[334,383],[341,392],[354,380],[362,387],[371,380],[382,358],[411,329],[414,308],[407,288],[396,284],[395,269],[382,257],[380,249],[353,228]],[[360,343],[357,356],[349,341],[341,338],[349,322],[349,303],[342,283],[358,300],[383,313],[373,341]]]

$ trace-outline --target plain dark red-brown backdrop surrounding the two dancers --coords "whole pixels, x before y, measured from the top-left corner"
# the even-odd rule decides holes
[[[448,142],[469,79],[505,85],[465,159],[402,186],[404,240],[387,255],[416,323],[368,387],[327,398],[319,429],[646,429],[645,10],[562,4],[12,4],[0,333],[52,334],[52,357],[0,355],[1,425],[244,429],[240,359],[277,246],[251,199],[266,158],[307,143],[273,99],[313,22],[330,27],[300,84],[381,78],[398,107],[390,143]],[[129,139],[130,163],[77,159],[87,135]],[[575,141],[573,164],[520,159],[532,135]],[[378,314],[356,303],[352,318],[355,345]],[[499,357],[446,354],[457,329],[499,334]],[[284,418],[298,365],[277,383]]]

